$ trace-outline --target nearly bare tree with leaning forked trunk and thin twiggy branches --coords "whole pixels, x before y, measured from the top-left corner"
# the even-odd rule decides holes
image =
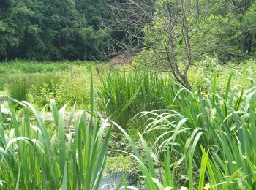
[[[123,51],[143,48],[143,53],[157,58],[157,67],[162,65],[178,83],[191,89],[187,72],[197,57],[195,34],[207,14],[208,1],[126,0],[110,4],[114,19],[108,20],[106,27],[123,31],[129,39],[115,39],[116,45]]]

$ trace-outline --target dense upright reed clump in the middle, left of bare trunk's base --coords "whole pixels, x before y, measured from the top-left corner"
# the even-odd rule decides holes
[[[170,107],[179,88],[168,76],[145,72],[108,73],[97,86],[97,105],[102,115],[126,128],[142,111]]]

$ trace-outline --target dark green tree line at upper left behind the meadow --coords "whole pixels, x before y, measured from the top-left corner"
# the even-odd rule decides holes
[[[0,60],[89,60],[112,46],[100,0],[0,0]]]

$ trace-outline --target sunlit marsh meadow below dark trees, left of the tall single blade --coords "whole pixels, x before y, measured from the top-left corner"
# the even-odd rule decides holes
[[[3,90],[15,99],[27,100],[37,107],[43,107],[48,99],[56,99],[59,106],[77,102],[81,107],[89,104],[89,64],[94,63],[26,64],[18,61],[4,64],[1,66],[6,78],[2,81],[6,87]],[[8,75],[11,70],[13,74]]]

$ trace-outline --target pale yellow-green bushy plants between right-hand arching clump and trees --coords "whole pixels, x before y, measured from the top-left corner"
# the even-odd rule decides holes
[[[211,91],[208,79],[214,78],[217,74],[217,91],[225,92],[227,76],[233,73],[232,88],[236,86],[244,86],[249,89],[253,87],[256,81],[255,60],[246,61],[245,64],[236,64],[229,62],[227,64],[219,64],[217,58],[206,57],[202,61],[197,62],[188,72],[190,83],[195,89],[200,88],[200,91],[208,94]]]

